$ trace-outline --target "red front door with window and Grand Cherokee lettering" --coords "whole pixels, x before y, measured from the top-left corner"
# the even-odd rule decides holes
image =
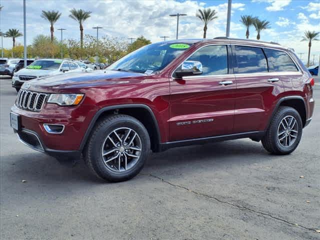
[[[230,47],[202,46],[185,60],[200,61],[203,73],[170,79],[170,141],[231,133],[235,78],[228,67]]]

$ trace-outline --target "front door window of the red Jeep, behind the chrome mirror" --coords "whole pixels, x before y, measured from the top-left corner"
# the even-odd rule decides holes
[[[228,73],[227,50],[225,45],[205,46],[193,53],[187,60],[202,63],[202,75]]]

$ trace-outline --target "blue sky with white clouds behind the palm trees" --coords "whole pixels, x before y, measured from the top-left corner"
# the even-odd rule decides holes
[[[168,14],[187,13],[181,17],[180,38],[202,37],[203,25],[195,17],[196,9],[211,7],[218,12],[218,18],[208,25],[207,37],[225,34],[227,0],[26,0],[27,1],[27,43],[37,34],[49,34],[49,23],[40,17],[41,10],[58,9],[61,18],[55,29],[67,28],[65,38],[79,38],[76,21],[68,17],[73,7],[92,11],[84,22],[84,33],[95,35],[92,26],[103,26],[100,35],[114,37],[137,37],[144,35],[152,42],[159,41],[161,35],[175,36],[176,21]],[[0,0],[1,30],[18,28],[23,31],[22,0]],[[277,41],[303,52],[306,58],[307,42],[300,42],[304,30],[320,31],[320,0],[233,0],[231,16],[231,36],[245,37],[245,28],[239,22],[240,15],[249,14],[269,20],[271,28],[261,32],[261,40]],[[55,35],[59,37],[58,32]],[[253,27],[250,38],[255,38]],[[22,43],[23,37],[17,42]],[[4,47],[12,41],[3,40]],[[320,53],[320,41],[312,44],[312,54]]]

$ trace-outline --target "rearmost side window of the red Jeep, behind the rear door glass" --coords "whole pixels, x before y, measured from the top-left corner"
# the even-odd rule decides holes
[[[284,51],[264,48],[268,59],[269,71],[297,71],[292,59]]]

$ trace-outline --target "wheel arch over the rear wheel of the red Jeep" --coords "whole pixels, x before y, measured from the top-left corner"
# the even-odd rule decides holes
[[[303,97],[302,96],[285,96],[285,97],[280,98],[277,101],[277,103],[272,111],[271,117],[269,118],[269,121],[268,121],[266,128],[268,128],[268,126],[270,125],[270,122],[271,122],[275,112],[278,110],[279,106],[290,106],[290,107],[294,108],[295,110],[297,110],[297,112],[299,113],[299,115],[302,119],[302,125],[303,125],[303,127],[305,126],[306,105],[305,105]]]

